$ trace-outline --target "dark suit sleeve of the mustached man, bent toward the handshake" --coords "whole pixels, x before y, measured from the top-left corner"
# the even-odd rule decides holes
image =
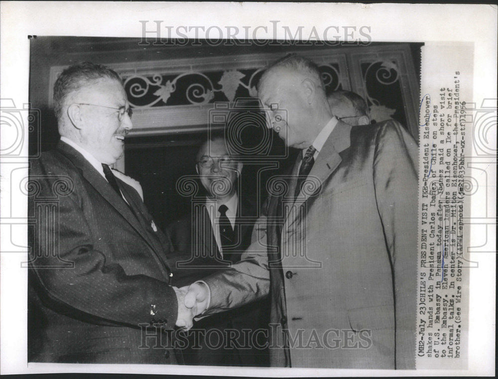
[[[88,204],[78,194],[83,188],[78,177],[37,163],[30,175],[32,181],[36,176],[39,188],[38,200],[29,201],[31,212],[38,208],[30,232],[30,268],[40,296],[63,313],[132,326],[166,322],[166,328],[173,328],[178,310],[173,288],[146,275],[127,275],[118,263],[109,262],[102,250],[105,243],[92,235],[91,220],[83,211]],[[54,189],[64,177],[74,189],[60,195]],[[57,205],[44,207],[43,198],[57,199]],[[130,252],[130,259],[140,254]],[[62,261],[72,266],[60,268]]]

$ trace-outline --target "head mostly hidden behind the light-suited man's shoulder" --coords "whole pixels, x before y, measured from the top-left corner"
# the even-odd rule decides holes
[[[332,114],[347,124],[370,124],[369,107],[365,99],[351,91],[338,90],[327,97]]]

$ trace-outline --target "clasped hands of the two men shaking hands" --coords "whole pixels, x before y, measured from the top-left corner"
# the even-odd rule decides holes
[[[195,316],[203,313],[209,305],[209,287],[202,282],[173,287],[178,300],[178,316],[176,326],[189,330],[193,326]]]

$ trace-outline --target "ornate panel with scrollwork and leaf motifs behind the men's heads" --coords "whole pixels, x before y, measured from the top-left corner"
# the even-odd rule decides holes
[[[294,48],[295,49],[295,48]],[[399,120],[418,137],[418,84],[408,44],[289,50],[312,59],[327,91],[364,96],[372,118]],[[109,64],[124,79],[133,107],[133,135],[206,130],[215,102],[256,95],[263,68],[278,54],[231,55]],[[51,68],[52,87],[63,66]]]

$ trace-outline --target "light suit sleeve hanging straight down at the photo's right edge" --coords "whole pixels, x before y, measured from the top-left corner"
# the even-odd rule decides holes
[[[373,181],[394,275],[396,368],[415,368],[418,147],[396,121],[376,136]]]

